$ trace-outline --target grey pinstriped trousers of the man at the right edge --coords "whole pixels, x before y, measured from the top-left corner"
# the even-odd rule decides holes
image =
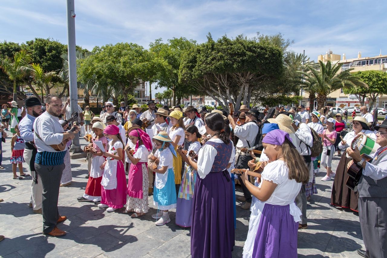
[[[387,197],[360,197],[359,219],[367,256],[387,257]]]

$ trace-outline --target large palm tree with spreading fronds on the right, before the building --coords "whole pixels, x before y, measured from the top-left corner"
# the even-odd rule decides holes
[[[340,88],[351,88],[357,86],[366,86],[365,83],[361,82],[358,77],[353,76],[348,69],[341,71],[342,63],[336,63],[332,65],[330,61],[326,64],[319,61],[318,68],[315,65],[306,65],[306,71],[300,71],[303,74],[305,84],[313,85],[313,89],[317,94],[317,108],[324,107],[327,96],[330,92]]]

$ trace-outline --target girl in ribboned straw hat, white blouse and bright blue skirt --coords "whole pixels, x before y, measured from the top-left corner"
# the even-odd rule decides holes
[[[157,226],[162,226],[171,221],[168,210],[176,208],[175,174],[173,172],[173,157],[176,151],[173,148],[172,140],[166,132],[159,132],[153,136],[156,152],[154,156],[159,159],[159,164],[153,172],[156,173],[153,189],[153,204],[158,211],[152,218],[158,219]]]

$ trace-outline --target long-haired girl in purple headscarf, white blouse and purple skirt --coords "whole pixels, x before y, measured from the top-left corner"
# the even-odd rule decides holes
[[[279,129],[268,132],[262,144],[269,163],[260,184],[251,184],[246,174],[241,177],[258,199],[251,206],[243,257],[297,257],[301,211],[294,201],[301,185],[308,182],[309,171],[287,132]]]

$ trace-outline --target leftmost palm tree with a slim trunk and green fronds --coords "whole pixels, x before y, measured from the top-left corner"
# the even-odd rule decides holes
[[[31,69],[29,63],[32,61],[32,55],[27,50],[21,50],[14,53],[14,60],[11,58],[0,59],[0,67],[11,81],[14,82],[14,97],[13,100],[17,101],[17,86],[16,81],[21,79],[27,71]]]

